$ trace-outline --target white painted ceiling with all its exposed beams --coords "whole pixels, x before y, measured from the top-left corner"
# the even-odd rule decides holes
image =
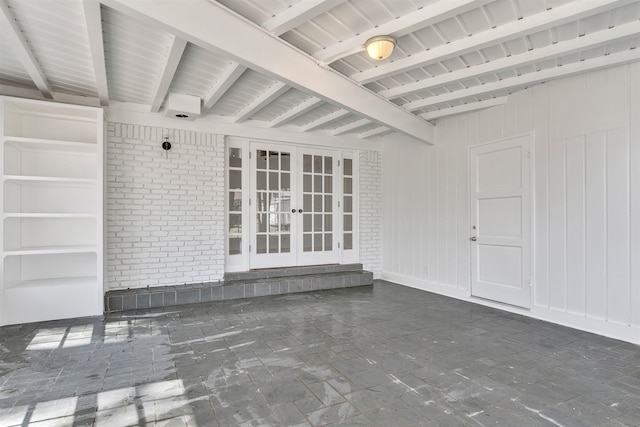
[[[640,0],[0,0],[0,93],[429,142],[433,120],[640,60]],[[374,61],[364,42],[398,41]]]

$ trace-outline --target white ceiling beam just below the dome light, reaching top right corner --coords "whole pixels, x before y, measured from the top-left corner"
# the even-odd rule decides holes
[[[351,78],[361,84],[370,83],[394,74],[424,67],[428,64],[442,62],[446,59],[458,57],[488,46],[494,46],[526,34],[557,27],[567,22],[605,12],[634,1],[637,0],[598,0],[593,2],[576,1],[567,3],[545,12],[501,25],[494,29],[435,47],[431,50],[416,53],[407,58],[398,59],[394,62],[382,64],[376,68],[355,73],[351,75]]]

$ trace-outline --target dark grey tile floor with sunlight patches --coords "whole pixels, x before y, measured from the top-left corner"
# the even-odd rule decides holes
[[[640,347],[388,282],[0,328],[0,426],[637,426]]]

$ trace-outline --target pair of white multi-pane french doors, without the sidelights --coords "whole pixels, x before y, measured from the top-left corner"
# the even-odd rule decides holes
[[[251,145],[251,268],[339,261],[339,153]]]

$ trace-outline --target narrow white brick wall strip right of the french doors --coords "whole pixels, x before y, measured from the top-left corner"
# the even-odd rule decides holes
[[[361,151],[360,262],[379,279],[382,272],[382,153]]]

